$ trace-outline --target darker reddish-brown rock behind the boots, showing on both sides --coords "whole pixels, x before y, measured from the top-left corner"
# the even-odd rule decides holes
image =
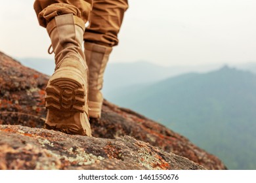
[[[48,80],[49,76],[24,67],[0,52],[0,125],[43,127],[46,116],[44,88]],[[195,146],[185,137],[108,101],[104,101],[102,118],[92,119],[90,123],[93,137],[115,139],[129,135],[165,152],[188,158],[206,169],[226,169],[219,158]]]

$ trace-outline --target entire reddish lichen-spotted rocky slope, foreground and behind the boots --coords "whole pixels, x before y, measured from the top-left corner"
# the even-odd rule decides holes
[[[77,169],[190,169],[194,166],[191,161],[203,165],[206,169],[226,169],[220,159],[195,146],[185,137],[136,112],[119,108],[107,101],[104,101],[102,107],[102,118],[90,120],[93,137],[60,135],[60,132],[43,129],[46,116],[44,88],[48,80],[49,76],[24,67],[0,52],[0,169],[35,169],[35,163],[40,165],[37,169],[41,169],[41,165],[44,165],[45,169],[51,169],[49,165],[45,167],[45,162],[55,160],[60,166],[53,166],[53,169],[73,169],[74,165]],[[136,139],[128,142],[127,146],[139,144],[139,152],[130,148],[131,154],[139,154],[135,159],[129,156],[131,154],[121,140],[126,135],[130,136],[128,139]],[[128,139],[125,138],[124,141]],[[39,144],[41,142],[44,143]],[[102,144],[99,144],[100,142]],[[95,146],[95,143],[98,146]],[[67,152],[66,148],[70,149],[70,144],[74,145],[74,151]],[[140,156],[142,151],[148,155],[148,159]],[[165,154],[163,151],[166,152],[166,156],[162,156]],[[173,158],[177,157],[171,156],[171,152],[185,158],[181,157],[181,161],[173,164]],[[91,158],[98,156],[104,160],[94,159],[98,163],[94,161],[93,165],[83,166],[85,161],[91,161]],[[144,160],[141,158],[149,161],[143,163]],[[172,160],[169,159],[171,161],[165,163],[161,161],[162,158]],[[183,166],[182,163],[186,162],[188,166]],[[77,166],[77,163],[82,165]],[[201,168],[195,166],[194,169]]]

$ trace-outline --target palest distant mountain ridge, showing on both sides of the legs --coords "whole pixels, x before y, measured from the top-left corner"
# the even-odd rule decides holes
[[[52,75],[54,71],[53,59],[42,58],[20,58],[20,62],[40,71],[46,75]],[[137,61],[133,63],[108,63],[104,74],[104,89],[106,97],[111,96],[112,92],[125,86],[136,84],[150,84],[171,76],[196,71],[207,72],[220,67],[219,64],[196,65],[196,66],[176,66],[163,67],[147,61]]]

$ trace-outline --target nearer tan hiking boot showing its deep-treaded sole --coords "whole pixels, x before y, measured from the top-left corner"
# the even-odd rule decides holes
[[[87,105],[88,67],[82,50],[85,23],[77,16],[56,16],[47,25],[56,68],[45,89],[45,127],[91,136]]]

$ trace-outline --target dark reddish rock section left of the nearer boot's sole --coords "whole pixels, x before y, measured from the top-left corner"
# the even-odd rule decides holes
[[[41,127],[49,76],[24,67],[0,52],[0,124]]]

